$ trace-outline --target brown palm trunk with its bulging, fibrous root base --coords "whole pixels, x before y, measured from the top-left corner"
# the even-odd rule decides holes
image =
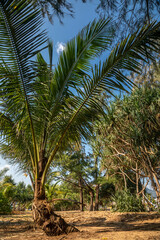
[[[53,207],[47,202],[45,189],[41,181],[43,170],[44,161],[39,161],[39,177],[35,179],[34,201],[32,205],[34,222],[49,236],[77,232],[78,229],[68,225],[63,218],[55,214]]]

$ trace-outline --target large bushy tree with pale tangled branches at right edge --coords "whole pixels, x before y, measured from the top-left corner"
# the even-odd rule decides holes
[[[142,193],[140,178],[149,178],[159,202],[159,88],[143,86],[110,104],[99,127],[103,160],[109,174],[121,173]],[[144,189],[143,189],[144,190]]]

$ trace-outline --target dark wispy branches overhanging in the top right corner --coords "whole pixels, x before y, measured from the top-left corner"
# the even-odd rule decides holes
[[[160,2],[157,0],[100,0],[97,12],[115,19],[117,37],[134,32],[141,24],[150,23],[160,16]]]

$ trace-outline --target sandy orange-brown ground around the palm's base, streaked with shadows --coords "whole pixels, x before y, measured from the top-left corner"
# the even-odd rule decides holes
[[[48,237],[33,228],[31,213],[0,216],[0,240],[160,240],[160,214],[57,212],[80,232]]]

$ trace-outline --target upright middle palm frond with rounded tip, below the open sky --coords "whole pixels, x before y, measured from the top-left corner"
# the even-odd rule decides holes
[[[82,76],[91,68],[91,60],[107,50],[112,39],[110,21],[102,19],[90,23],[66,44],[54,71],[57,101],[61,100],[68,88],[74,89],[80,84]]]

